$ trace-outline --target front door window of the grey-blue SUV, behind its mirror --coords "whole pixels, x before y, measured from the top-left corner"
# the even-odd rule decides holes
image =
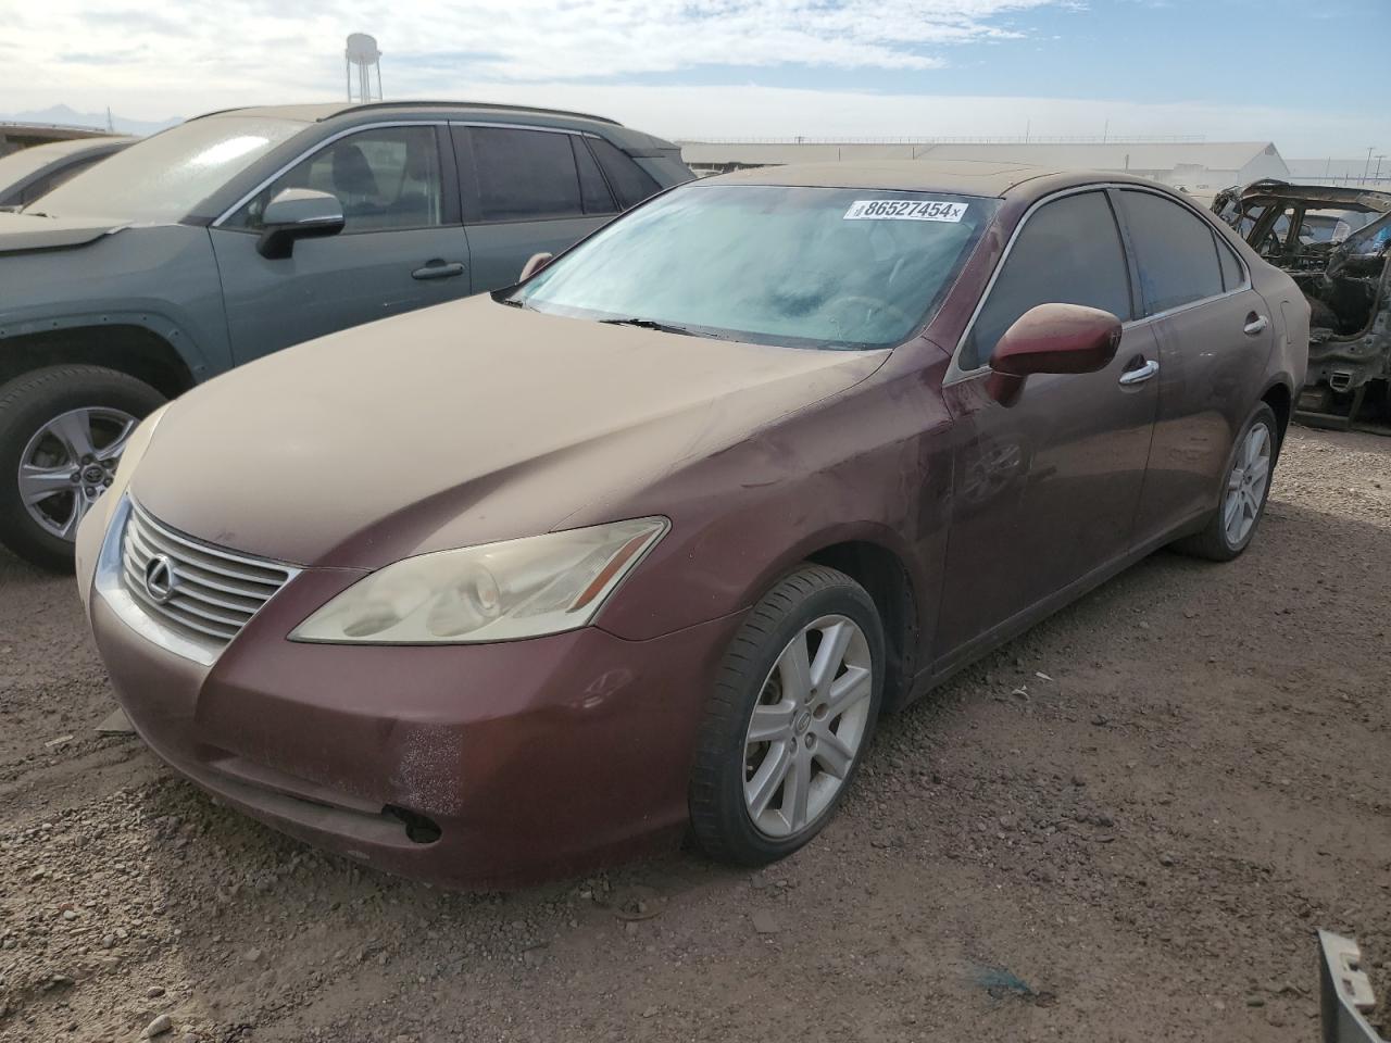
[[[434,127],[383,127],[325,145],[257,193],[230,221],[260,228],[266,206],[287,188],[338,197],[344,235],[442,224],[442,178]]]

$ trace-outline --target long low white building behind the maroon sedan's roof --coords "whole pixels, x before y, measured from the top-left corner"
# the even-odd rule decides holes
[[[1259,178],[1288,178],[1271,142],[1088,140],[1088,142],[682,142],[682,156],[698,174],[787,163],[864,160],[978,160],[1027,163],[1053,170],[1128,172],[1212,196]]]

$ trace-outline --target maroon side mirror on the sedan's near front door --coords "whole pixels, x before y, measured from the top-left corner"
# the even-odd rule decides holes
[[[1116,357],[1121,320],[1082,305],[1039,305],[1004,331],[990,353],[986,391],[1013,406],[1035,373],[1096,373]]]

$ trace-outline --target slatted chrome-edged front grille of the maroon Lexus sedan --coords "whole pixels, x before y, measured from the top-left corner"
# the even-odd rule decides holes
[[[121,617],[156,644],[204,665],[300,572],[185,535],[129,495],[111,519],[106,544],[99,570],[104,583],[97,585]],[[163,604],[146,584],[146,567],[157,555],[178,577]]]

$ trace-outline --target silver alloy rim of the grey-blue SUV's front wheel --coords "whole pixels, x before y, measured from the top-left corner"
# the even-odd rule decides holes
[[[40,427],[19,455],[19,498],[29,517],[60,540],[107,491],[139,420],[125,410],[72,409]]]

